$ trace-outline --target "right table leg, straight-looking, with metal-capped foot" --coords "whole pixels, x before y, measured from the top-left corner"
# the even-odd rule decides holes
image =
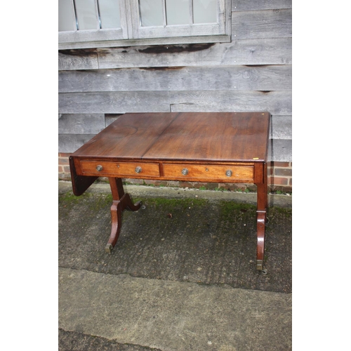
[[[263,270],[265,255],[265,224],[267,222],[267,164],[263,165],[263,183],[257,184],[257,260],[256,268]]]

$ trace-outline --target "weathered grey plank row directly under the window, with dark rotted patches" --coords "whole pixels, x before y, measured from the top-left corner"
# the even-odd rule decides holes
[[[291,65],[291,38],[233,40],[231,43],[128,46],[59,53],[59,70],[222,65]],[[92,61],[92,62],[90,62]]]

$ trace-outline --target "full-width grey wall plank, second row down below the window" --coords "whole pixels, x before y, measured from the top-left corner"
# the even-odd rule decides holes
[[[291,65],[61,71],[58,91],[291,91],[291,76]]]

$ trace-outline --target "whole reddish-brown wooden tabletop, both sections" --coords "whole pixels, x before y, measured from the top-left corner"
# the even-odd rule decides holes
[[[159,161],[267,161],[269,112],[128,113],[73,157]]]

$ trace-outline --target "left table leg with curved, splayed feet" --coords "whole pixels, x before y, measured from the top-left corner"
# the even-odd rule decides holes
[[[114,245],[116,245],[119,232],[121,231],[121,215],[125,209],[129,211],[138,211],[141,201],[133,204],[129,194],[124,193],[121,178],[109,178],[112,192],[112,206],[111,206],[111,221],[112,228],[110,239],[105,246],[105,251],[111,253]]]

